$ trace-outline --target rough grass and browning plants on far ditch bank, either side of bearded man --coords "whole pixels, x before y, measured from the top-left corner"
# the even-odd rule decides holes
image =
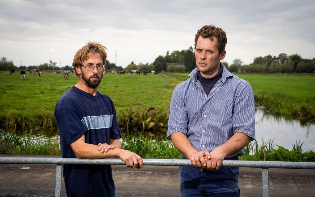
[[[169,113],[155,107],[148,110],[136,107],[117,112],[117,121],[122,133],[127,130],[136,133],[139,129],[145,133],[163,136],[167,130],[168,117]],[[45,136],[59,134],[53,112],[0,114],[0,120],[1,128],[19,135],[24,134],[25,130],[32,130],[33,134],[40,134],[39,132],[43,131]]]

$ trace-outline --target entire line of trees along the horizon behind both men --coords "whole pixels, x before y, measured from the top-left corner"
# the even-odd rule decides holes
[[[241,59],[234,59],[229,65],[226,61],[222,64],[230,71],[237,73],[295,73],[295,72],[315,72],[315,58],[304,59],[298,54],[287,55],[281,53],[278,56],[266,55],[264,57],[256,57],[253,63],[244,65]],[[58,67],[57,63],[49,61],[38,66],[14,66],[12,61],[8,61],[5,57],[0,59],[0,70],[11,70],[19,68],[20,70],[38,69],[38,70],[73,70],[72,66]],[[191,72],[196,67],[194,49],[189,47],[185,50],[175,50],[172,53],[166,52],[166,55],[159,55],[154,62],[149,64],[139,63],[136,65],[132,61],[127,67],[117,66],[106,60],[106,70],[116,71],[151,71],[156,72]]]

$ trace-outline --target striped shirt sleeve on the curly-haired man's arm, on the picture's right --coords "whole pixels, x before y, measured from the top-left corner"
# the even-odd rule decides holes
[[[255,138],[255,100],[250,84],[239,84],[233,107],[233,133],[241,132]]]

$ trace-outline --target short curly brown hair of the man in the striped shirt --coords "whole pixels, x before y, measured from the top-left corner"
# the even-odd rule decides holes
[[[218,38],[218,50],[221,54],[222,51],[225,50],[225,46],[227,43],[225,31],[223,31],[220,27],[216,27],[214,25],[205,25],[198,30],[195,35],[195,49],[197,45],[198,38],[202,36],[202,38],[209,38],[213,41],[213,37]]]

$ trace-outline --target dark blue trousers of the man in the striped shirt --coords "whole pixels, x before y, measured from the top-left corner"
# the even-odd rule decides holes
[[[238,157],[227,158],[238,160]],[[180,166],[180,196],[238,197],[238,167],[204,170],[194,166]]]

